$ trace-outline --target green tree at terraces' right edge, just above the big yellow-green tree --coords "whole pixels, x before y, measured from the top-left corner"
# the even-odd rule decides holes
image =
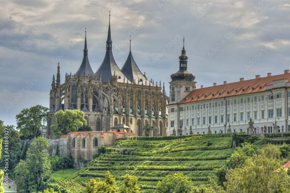
[[[249,143],[241,144],[242,147],[237,147],[231,157],[226,160],[226,166],[234,169],[237,166],[242,166],[246,159],[252,157],[256,153],[257,147]]]

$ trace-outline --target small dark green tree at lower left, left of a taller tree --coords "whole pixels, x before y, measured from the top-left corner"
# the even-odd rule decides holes
[[[15,168],[15,182],[17,183],[17,192],[30,192],[31,176],[29,174],[28,165],[25,161],[20,160]]]

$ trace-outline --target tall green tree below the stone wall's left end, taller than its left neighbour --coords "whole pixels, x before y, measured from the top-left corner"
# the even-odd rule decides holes
[[[44,179],[48,179],[51,173],[50,161],[46,155],[47,147],[47,139],[37,137],[27,151],[28,168],[30,173],[33,174],[33,184],[36,185],[36,191],[39,191]]]

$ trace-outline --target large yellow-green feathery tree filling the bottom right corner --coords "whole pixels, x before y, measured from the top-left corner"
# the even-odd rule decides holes
[[[243,167],[227,171],[227,192],[289,192],[290,177],[280,160],[281,152],[275,145],[268,144]]]

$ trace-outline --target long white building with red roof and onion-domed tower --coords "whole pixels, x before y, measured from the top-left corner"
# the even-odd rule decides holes
[[[272,133],[290,130],[290,73],[195,88],[183,47],[171,75],[167,135]]]

